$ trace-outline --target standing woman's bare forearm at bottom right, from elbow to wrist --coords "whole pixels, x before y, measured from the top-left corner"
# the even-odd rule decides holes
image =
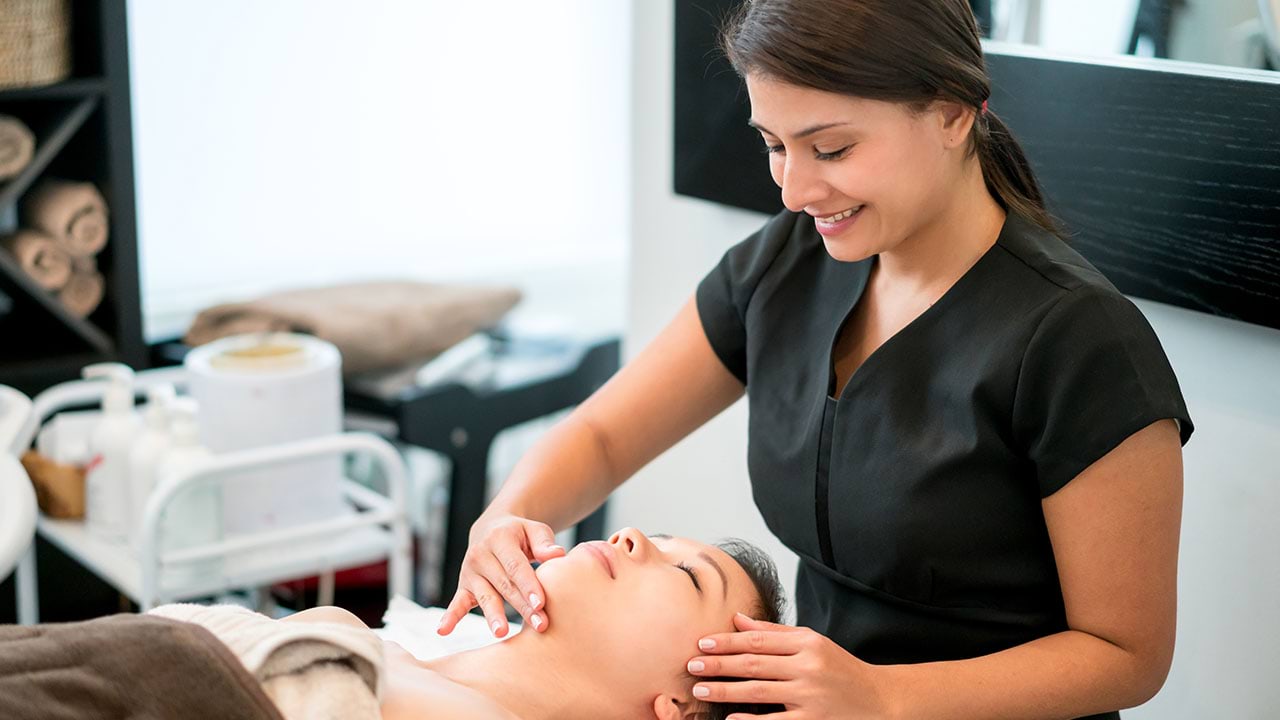
[[[972,660],[884,667],[902,720],[1074,719],[1149,700],[1167,664],[1068,630]]]

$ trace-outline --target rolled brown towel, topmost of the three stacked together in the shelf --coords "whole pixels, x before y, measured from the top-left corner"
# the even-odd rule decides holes
[[[72,258],[97,255],[106,245],[106,200],[93,183],[47,179],[23,201],[23,217]]]

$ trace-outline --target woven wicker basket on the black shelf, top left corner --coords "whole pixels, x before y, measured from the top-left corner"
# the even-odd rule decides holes
[[[70,0],[0,0],[0,88],[72,73]]]

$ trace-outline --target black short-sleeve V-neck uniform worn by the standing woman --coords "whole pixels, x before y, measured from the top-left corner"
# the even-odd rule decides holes
[[[835,392],[876,258],[782,213],[698,287],[745,386],[756,506],[800,556],[797,620],[876,664],[977,657],[1066,629],[1041,500],[1134,432],[1192,421],[1142,313],[1010,214],[997,242]],[[1117,717],[1103,715],[1100,717]]]

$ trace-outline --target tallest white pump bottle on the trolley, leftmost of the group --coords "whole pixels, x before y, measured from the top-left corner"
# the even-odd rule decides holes
[[[129,451],[141,423],[133,411],[133,369],[99,363],[83,370],[84,379],[105,378],[102,419],[88,437],[84,475],[84,524],[91,534],[120,541],[129,523]]]

